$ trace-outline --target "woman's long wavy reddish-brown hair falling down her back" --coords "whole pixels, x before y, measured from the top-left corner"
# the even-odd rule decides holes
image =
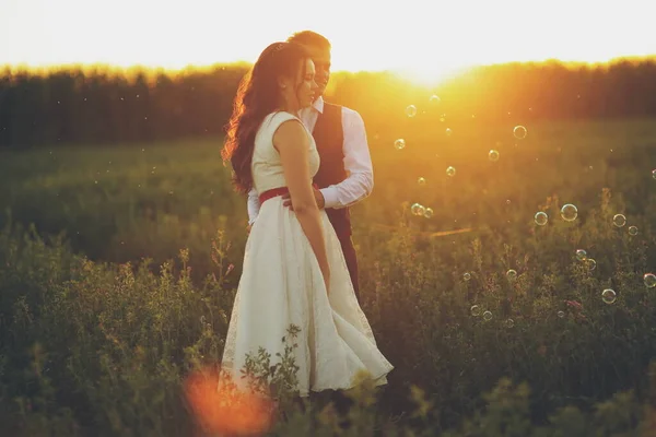
[[[247,193],[253,188],[250,162],[255,135],[263,118],[280,105],[279,78],[294,78],[298,82],[296,78],[301,71],[301,85],[307,58],[306,49],[296,43],[273,43],[239,82],[221,151],[223,162],[232,164],[236,191]]]

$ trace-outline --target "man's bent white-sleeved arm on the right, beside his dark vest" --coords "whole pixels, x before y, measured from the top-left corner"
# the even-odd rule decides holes
[[[353,109],[342,107],[343,152],[347,178],[323,188],[324,208],[345,208],[360,202],[374,189],[374,170],[364,121]]]

